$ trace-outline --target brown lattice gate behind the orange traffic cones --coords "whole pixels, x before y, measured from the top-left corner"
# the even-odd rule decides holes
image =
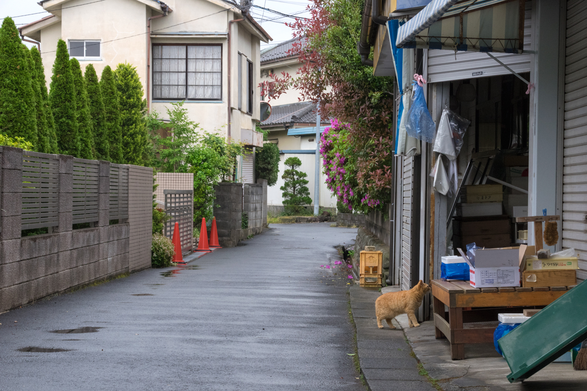
[[[165,225],[165,236],[173,239],[173,228],[176,222],[180,227],[181,251],[193,250],[194,236],[194,191],[164,190],[165,213],[169,220]]]

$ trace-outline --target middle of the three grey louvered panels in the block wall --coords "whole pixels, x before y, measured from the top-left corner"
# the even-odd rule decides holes
[[[99,163],[73,159],[73,223],[98,221]]]

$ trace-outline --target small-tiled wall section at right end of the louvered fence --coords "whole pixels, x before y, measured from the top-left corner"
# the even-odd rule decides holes
[[[152,194],[153,169],[129,165],[129,271],[151,267]]]

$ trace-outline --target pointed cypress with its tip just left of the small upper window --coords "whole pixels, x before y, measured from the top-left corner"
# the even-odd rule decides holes
[[[49,91],[49,101],[55,119],[55,133],[59,152],[64,155],[79,156],[79,135],[77,134],[75,84],[69,64],[68,45],[63,39],[57,43],[57,53],[53,64],[53,76]]]

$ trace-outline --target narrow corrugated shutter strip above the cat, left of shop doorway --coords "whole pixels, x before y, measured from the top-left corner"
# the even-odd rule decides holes
[[[413,204],[414,158],[403,158],[402,171],[402,290],[411,288],[411,215]]]

